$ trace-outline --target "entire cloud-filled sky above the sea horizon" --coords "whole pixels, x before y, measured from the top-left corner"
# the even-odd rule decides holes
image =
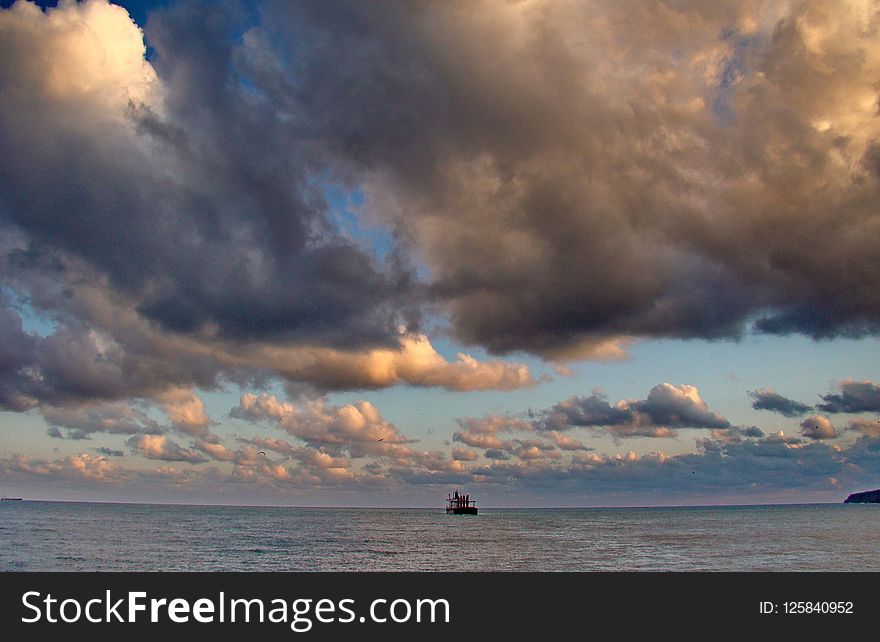
[[[0,490],[880,486],[880,2],[0,3]]]

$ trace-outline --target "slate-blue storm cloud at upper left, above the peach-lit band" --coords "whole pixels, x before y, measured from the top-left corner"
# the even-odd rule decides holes
[[[79,10],[86,22],[98,12],[124,17],[98,4]],[[70,17],[77,9],[56,11]],[[405,301],[409,272],[334,231],[313,184],[321,167],[295,128],[231,82],[239,72],[230,34],[242,27],[234,13],[185,3],[154,16],[161,81],[121,49],[127,43],[109,40],[105,76],[59,90],[46,86],[51,75],[82,73],[77,55],[94,43],[81,37],[64,51],[64,33],[43,35],[41,17],[7,12],[3,218],[41,251],[73,254],[106,275],[167,330],[391,344],[397,324],[414,318]],[[28,30],[43,39],[26,38]],[[50,58],[41,68],[28,60],[41,49],[72,60]],[[127,92],[125,118],[101,101],[105,84]],[[161,115],[145,104],[151,100],[161,101]]]

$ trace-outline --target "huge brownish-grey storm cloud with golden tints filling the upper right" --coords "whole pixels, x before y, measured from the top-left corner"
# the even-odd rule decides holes
[[[464,341],[876,333],[876,21],[657,7],[270,3],[244,57],[403,228]],[[278,41],[295,65],[259,66]]]

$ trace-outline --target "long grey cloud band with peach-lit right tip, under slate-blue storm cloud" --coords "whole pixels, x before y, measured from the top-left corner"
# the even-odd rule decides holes
[[[22,276],[15,261],[9,265],[7,274],[25,281],[34,277]],[[8,334],[8,354],[0,354],[0,403],[21,411],[40,404],[148,399],[177,430],[200,436],[207,434],[211,419],[200,407],[196,388],[215,390],[224,382],[245,385],[280,377],[316,391],[403,384],[510,390],[536,383],[522,364],[478,361],[464,354],[447,361],[424,335],[401,336],[395,348],[367,350],[172,335],[93,282],[97,278],[88,270],[71,269],[55,279],[28,281],[34,288],[30,300],[40,309],[58,307],[57,301],[70,308],[47,336],[24,332],[18,312],[7,302],[0,314],[0,333]],[[0,307],[3,303],[0,298]],[[89,322],[75,316],[87,316]]]

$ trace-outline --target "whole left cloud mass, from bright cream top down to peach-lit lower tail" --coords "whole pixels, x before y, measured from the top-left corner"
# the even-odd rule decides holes
[[[0,11],[0,404],[147,398],[204,437],[181,395],[221,380],[534,385],[521,364],[449,362],[416,331],[402,246],[380,257],[338,229],[325,155],[256,100],[258,78],[232,80],[234,14],[155,15],[157,68],[103,0]],[[53,331],[25,331],[7,293]]]

